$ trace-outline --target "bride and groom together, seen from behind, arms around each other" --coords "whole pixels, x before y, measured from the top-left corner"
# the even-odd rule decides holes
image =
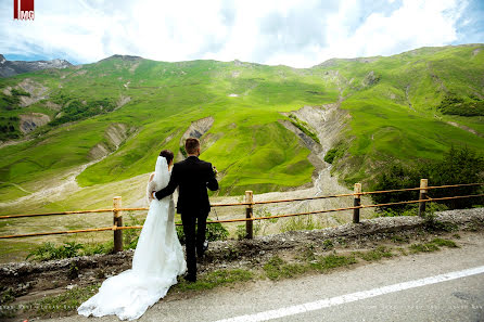
[[[204,256],[205,228],[211,204],[207,189],[218,190],[217,170],[199,159],[200,141],[184,142],[188,157],[174,164],[168,150],[160,153],[147,193],[150,209],[138,240],[132,268],[105,280],[99,293],[85,301],[78,313],[89,317],[116,314],[135,320],[164,297],[177,276],[196,282],[196,258]],[[175,230],[173,193],[178,188],[177,212],[181,215],[187,260]],[[195,232],[196,227],[196,232]]]

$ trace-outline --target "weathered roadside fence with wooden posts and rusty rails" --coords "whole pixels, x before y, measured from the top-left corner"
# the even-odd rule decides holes
[[[243,222],[244,221],[246,237],[253,239],[253,222],[254,222],[254,220],[266,220],[266,219],[273,219],[273,218],[285,218],[285,217],[296,217],[296,216],[353,210],[353,222],[359,223],[360,222],[359,211],[362,208],[387,207],[387,206],[418,203],[419,204],[419,216],[423,216],[425,212],[425,205],[429,202],[438,202],[438,201],[484,196],[484,194],[474,194],[474,195],[460,195],[460,196],[431,198],[428,195],[429,190],[444,189],[444,188],[473,186],[473,185],[475,186],[475,185],[482,185],[484,183],[466,183],[466,184],[450,184],[450,185],[438,185],[438,186],[429,186],[428,183],[429,183],[428,179],[421,179],[420,188],[396,189],[396,190],[385,190],[385,191],[368,191],[368,192],[362,192],[361,184],[355,183],[353,193],[323,195],[323,196],[315,196],[315,197],[303,197],[303,198],[292,198],[292,199],[266,201],[266,202],[254,202],[253,192],[246,191],[245,192],[245,201],[243,203],[212,205],[212,207],[215,207],[215,208],[216,207],[244,206],[245,207],[245,218],[214,220],[214,221],[207,221],[207,223],[217,223],[217,222],[227,223],[227,222],[240,222],[240,221]],[[404,191],[419,191],[420,192],[419,199],[396,202],[396,203],[386,203],[386,204],[374,204],[374,205],[362,205],[361,204],[362,195],[395,193],[395,192],[404,192]],[[267,217],[254,217],[254,212],[253,212],[254,206],[256,206],[256,205],[266,205],[266,204],[276,204],[276,203],[292,203],[292,202],[315,201],[315,199],[337,198],[337,197],[353,197],[353,206],[345,207],[345,208],[323,209],[323,210],[317,210],[317,211],[284,214],[284,215],[267,216]],[[99,232],[99,231],[110,231],[111,230],[114,232],[113,233],[114,234],[114,252],[120,252],[120,250],[123,250],[123,230],[125,230],[125,229],[141,229],[142,228],[142,226],[123,227],[123,211],[139,211],[139,210],[148,210],[148,209],[149,209],[148,207],[123,208],[122,197],[115,196],[113,198],[113,208],[107,208],[107,209],[60,211],[60,212],[47,212],[47,214],[20,214],[20,215],[0,216],[0,220],[1,220],[1,219],[14,219],[14,218],[24,218],[24,217],[38,217],[38,216],[66,216],[66,215],[75,215],[75,214],[113,212],[113,226],[112,227],[82,229],[82,230],[69,230],[69,231],[55,231],[55,232],[40,232],[40,233],[29,233],[29,234],[16,234],[16,235],[3,235],[3,236],[0,236],[0,240],[29,237],[29,236],[42,236],[42,235],[54,235],[54,234]],[[179,223],[177,223],[177,224],[179,224]]]

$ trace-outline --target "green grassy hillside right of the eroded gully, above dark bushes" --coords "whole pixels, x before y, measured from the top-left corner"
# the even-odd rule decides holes
[[[352,121],[339,145],[345,153],[335,160],[343,179],[368,181],[382,166],[441,158],[451,145],[482,151],[482,116],[466,117],[466,105],[453,106],[462,116],[445,115],[438,107],[449,94],[484,102],[483,49],[482,44],[423,48],[315,67],[337,70],[344,83],[342,108],[351,113]]]

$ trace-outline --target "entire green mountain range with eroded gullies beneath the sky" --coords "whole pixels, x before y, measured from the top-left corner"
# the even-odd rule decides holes
[[[370,182],[392,163],[437,159],[451,145],[482,150],[483,49],[422,48],[304,69],[115,55],[3,78],[0,203],[72,173],[80,186],[147,173],[162,149],[181,158],[188,134],[201,136],[219,193],[232,195],[307,184],[318,168],[311,155],[329,149],[347,184]]]

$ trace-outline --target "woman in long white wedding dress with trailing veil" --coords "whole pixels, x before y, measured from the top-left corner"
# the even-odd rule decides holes
[[[99,293],[85,301],[79,314],[102,317],[116,314],[122,320],[135,320],[164,297],[187,270],[180,242],[175,231],[173,196],[153,199],[151,191],[168,184],[174,154],[164,150],[156,159],[147,193],[150,210],[138,240],[132,268],[105,280]]]

